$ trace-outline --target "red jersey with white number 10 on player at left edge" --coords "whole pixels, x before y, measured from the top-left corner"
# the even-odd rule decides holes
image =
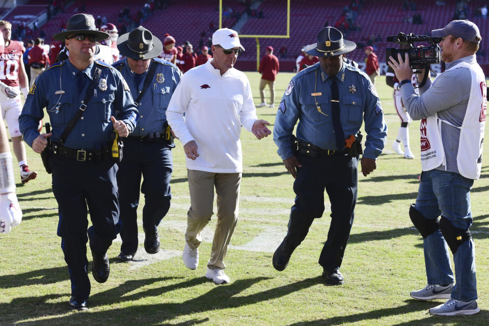
[[[19,67],[25,47],[19,41],[10,41],[0,55],[0,81],[7,86],[19,86]]]

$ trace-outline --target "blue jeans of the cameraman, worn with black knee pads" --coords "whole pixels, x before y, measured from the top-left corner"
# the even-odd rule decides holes
[[[454,227],[467,230],[472,225],[470,189],[473,184],[474,180],[458,173],[424,171],[421,174],[416,210],[426,219],[435,220],[441,215]],[[428,284],[453,283],[450,252],[440,229],[427,236],[423,246]],[[475,246],[472,239],[458,247],[453,261],[456,283],[452,298],[460,301],[476,300]]]

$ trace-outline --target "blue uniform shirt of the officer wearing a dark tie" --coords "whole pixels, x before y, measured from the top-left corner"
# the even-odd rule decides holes
[[[297,139],[322,149],[337,149],[328,77],[316,63],[297,73],[287,86],[274,126],[274,141],[283,160],[292,156],[290,136],[297,120]],[[363,118],[367,132],[363,157],[376,159],[387,140],[387,125],[375,88],[367,74],[347,64],[336,74],[336,83],[345,138],[358,133]],[[316,102],[325,115],[318,111]]]

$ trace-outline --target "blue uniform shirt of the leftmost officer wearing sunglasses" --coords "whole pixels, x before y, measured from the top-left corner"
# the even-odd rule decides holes
[[[122,120],[129,132],[134,129],[138,110],[120,72],[112,66],[95,61],[82,72],[84,82],[81,89],[78,89],[78,69],[69,60],[65,60],[40,73],[25,100],[19,116],[19,127],[29,146],[32,147],[34,139],[39,136],[38,124],[44,116],[44,107],[51,123],[51,140],[59,142],[68,122],[85,99],[96,68],[101,70],[101,74],[94,94],[64,146],[87,150],[106,147],[111,142],[114,130],[111,116]]]

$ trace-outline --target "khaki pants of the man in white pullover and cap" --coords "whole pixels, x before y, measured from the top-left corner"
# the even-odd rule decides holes
[[[192,249],[197,249],[202,242],[200,232],[214,214],[212,205],[215,186],[215,192],[218,195],[218,224],[215,227],[207,267],[210,269],[225,268],[226,265],[223,260],[226,257],[231,235],[238,221],[241,173],[187,170],[187,177],[191,207],[187,212],[185,241],[188,247]]]

